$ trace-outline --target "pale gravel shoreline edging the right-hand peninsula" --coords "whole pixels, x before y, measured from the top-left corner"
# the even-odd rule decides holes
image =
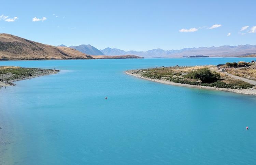
[[[125,71],[126,74],[130,76],[134,76],[137,78],[149,80],[149,81],[154,81],[154,82],[159,82],[162,84],[167,84],[167,85],[175,85],[175,86],[181,86],[181,87],[190,87],[190,88],[203,88],[203,89],[210,89],[210,90],[219,90],[219,91],[226,91],[226,92],[234,92],[234,93],[240,93],[240,94],[247,94],[247,95],[255,95],[256,96],[256,87],[250,88],[250,89],[229,89],[229,88],[215,88],[215,87],[206,87],[206,86],[196,86],[196,85],[189,85],[189,84],[180,84],[168,80],[158,80],[158,79],[152,79],[152,78],[147,78],[143,77],[139,74],[133,73],[130,71]]]

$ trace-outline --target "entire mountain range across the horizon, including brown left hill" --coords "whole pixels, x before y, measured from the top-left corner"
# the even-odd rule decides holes
[[[99,50],[91,45],[70,47],[59,45],[56,47],[30,41],[12,34],[0,33],[0,60],[140,58],[138,56],[146,58],[187,56],[255,57],[255,54],[256,45],[194,47],[180,50],[152,49],[148,51],[124,51],[109,47]],[[97,55],[97,57],[94,55]]]

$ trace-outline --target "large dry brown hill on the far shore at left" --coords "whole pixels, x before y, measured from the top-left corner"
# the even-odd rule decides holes
[[[93,57],[68,47],[55,47],[11,34],[0,34],[0,60],[50,59],[93,59]]]

